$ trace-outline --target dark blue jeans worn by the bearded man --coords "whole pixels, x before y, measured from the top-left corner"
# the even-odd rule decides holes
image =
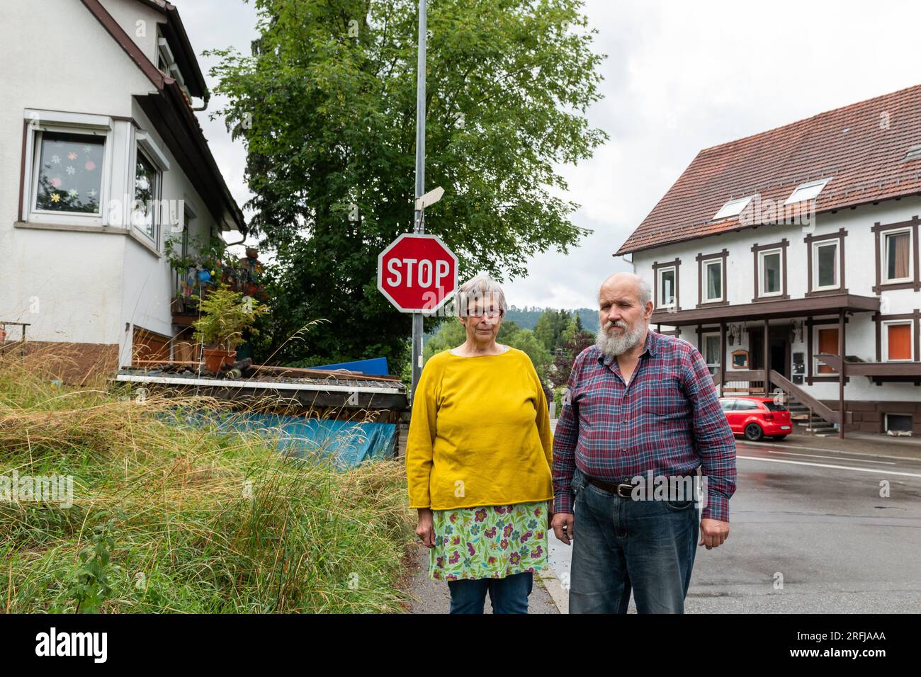
[[[569,613],[684,613],[699,531],[694,501],[635,501],[576,469]]]

